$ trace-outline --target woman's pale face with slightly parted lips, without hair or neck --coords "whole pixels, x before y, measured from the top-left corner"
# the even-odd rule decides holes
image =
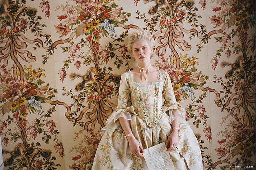
[[[132,44],[132,56],[138,63],[150,62],[152,48],[146,40],[140,40]]]

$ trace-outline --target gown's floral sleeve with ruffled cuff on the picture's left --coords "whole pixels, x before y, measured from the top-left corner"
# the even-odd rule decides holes
[[[106,126],[101,129],[101,134],[103,135],[105,130],[120,128],[120,123],[118,119],[124,117],[127,120],[131,120],[131,114],[136,114],[134,112],[133,106],[130,104],[130,77],[128,73],[123,73],[120,79],[119,91],[118,91],[118,105],[116,111],[108,117],[106,121]],[[102,133],[103,132],[103,133]]]

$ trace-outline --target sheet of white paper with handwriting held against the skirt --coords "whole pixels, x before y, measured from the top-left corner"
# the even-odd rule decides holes
[[[162,142],[150,148],[144,149],[143,153],[148,169],[150,170],[174,170],[174,164],[168,152],[166,152],[165,143]]]

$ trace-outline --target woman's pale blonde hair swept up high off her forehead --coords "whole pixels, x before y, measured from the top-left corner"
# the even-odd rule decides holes
[[[134,42],[137,42],[137,41],[140,41],[140,40],[147,41],[148,45],[150,47],[153,47],[153,45],[155,43],[155,40],[154,40],[154,38],[152,38],[152,35],[150,34],[150,32],[146,32],[146,31],[143,31],[143,30],[135,31],[130,35],[130,38],[129,38],[128,44],[127,44],[127,48],[128,48],[128,51],[130,53],[132,53],[132,44]]]

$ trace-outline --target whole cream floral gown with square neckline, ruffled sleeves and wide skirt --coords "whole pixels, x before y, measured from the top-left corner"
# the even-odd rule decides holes
[[[173,109],[180,111],[179,142],[170,158],[177,170],[202,170],[202,156],[198,140],[184,119],[184,109],[178,106],[170,77],[166,71],[158,71],[158,82],[136,83],[132,72],[121,76],[118,107],[102,128],[92,170],[146,170],[144,158],[134,156],[118,121],[130,120],[132,133],[143,148],[166,142],[172,132],[171,122],[176,117]]]

